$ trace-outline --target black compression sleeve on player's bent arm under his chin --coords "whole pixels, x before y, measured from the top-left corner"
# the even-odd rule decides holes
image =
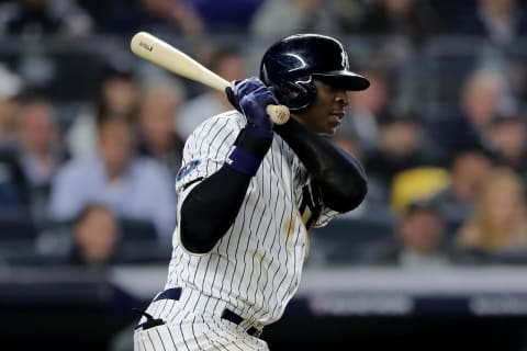
[[[367,178],[356,158],[294,118],[276,125],[274,131],[319,184],[326,206],[337,212],[348,212],[362,202],[368,191]]]

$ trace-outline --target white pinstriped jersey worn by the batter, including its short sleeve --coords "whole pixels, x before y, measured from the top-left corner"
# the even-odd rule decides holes
[[[205,121],[189,136],[176,181],[179,206],[194,186],[186,184],[223,166],[245,123],[242,114],[229,111]],[[274,135],[234,224],[210,252],[184,250],[176,228],[166,288],[198,290],[258,324],[273,322],[299,286],[309,227],[322,226],[336,215],[323,207],[306,169]]]

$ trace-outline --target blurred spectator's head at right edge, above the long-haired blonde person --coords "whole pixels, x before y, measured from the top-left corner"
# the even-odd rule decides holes
[[[527,135],[518,115],[497,116],[492,122],[491,144],[498,162],[513,169],[527,183]]]

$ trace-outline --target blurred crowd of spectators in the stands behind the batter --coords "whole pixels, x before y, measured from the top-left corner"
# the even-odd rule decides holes
[[[266,45],[293,33],[345,43],[371,87],[349,94],[334,143],[363,162],[369,193],[333,234],[314,231],[341,241],[312,246],[313,264],[527,263],[526,11],[520,0],[0,1],[0,262],[168,260],[184,140],[231,105],[134,59],[126,45],[144,30],[227,80],[257,75]]]

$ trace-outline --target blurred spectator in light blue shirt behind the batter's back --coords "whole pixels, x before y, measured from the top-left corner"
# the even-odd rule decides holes
[[[167,245],[173,230],[176,192],[168,169],[134,152],[130,118],[101,115],[98,120],[99,152],[72,159],[54,179],[51,215],[71,220],[91,203],[100,203],[120,216],[149,220],[159,244]]]

